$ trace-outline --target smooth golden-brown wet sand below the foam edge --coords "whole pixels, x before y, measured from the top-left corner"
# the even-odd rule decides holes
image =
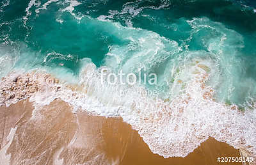
[[[61,100],[36,110],[28,100],[2,106],[0,123],[0,164],[198,165],[223,164],[217,157],[240,156],[239,150],[209,138],[185,158],[164,159],[122,118],[74,114]]]

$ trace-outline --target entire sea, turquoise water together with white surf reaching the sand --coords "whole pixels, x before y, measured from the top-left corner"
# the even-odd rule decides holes
[[[1,77],[44,70],[81,85],[62,99],[121,116],[154,153],[186,156],[209,136],[256,153],[255,1],[2,0],[0,35]],[[102,69],[143,81],[102,84]]]

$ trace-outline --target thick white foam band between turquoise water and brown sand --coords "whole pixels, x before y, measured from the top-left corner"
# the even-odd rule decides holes
[[[193,74],[196,68],[198,72]],[[255,154],[256,123],[250,112],[243,114],[235,105],[215,102],[214,91],[205,85],[209,74],[200,69],[202,67],[196,68],[190,69],[194,77],[187,82],[184,92],[167,102],[138,95],[136,91],[145,90],[140,86],[130,87],[134,92],[120,97],[116,94],[118,90],[127,87],[102,85],[100,72],[92,63],[88,63],[80,75],[82,91],[44,83],[45,90],[31,95],[30,100],[35,106],[43,106],[54,98],[61,98],[72,105],[74,111],[83,109],[101,116],[122,116],[139,131],[152,152],[164,157],[185,157],[209,136]],[[40,77],[38,75],[34,78]],[[56,89],[53,86],[61,86],[60,91],[52,90]]]

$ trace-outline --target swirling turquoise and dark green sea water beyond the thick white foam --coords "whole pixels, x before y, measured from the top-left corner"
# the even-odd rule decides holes
[[[2,0],[0,74],[44,68],[76,81],[89,59],[114,72],[156,73],[157,85],[145,86],[172,98],[193,77],[186,70],[202,63],[214,97],[243,107],[256,99],[255,8],[224,0]]]

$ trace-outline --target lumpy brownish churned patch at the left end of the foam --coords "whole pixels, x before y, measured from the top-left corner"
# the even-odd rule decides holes
[[[3,77],[0,82],[0,106],[18,102],[28,98],[31,94],[44,91],[47,88],[58,91],[58,79],[50,74],[31,72],[29,74],[15,74]]]

